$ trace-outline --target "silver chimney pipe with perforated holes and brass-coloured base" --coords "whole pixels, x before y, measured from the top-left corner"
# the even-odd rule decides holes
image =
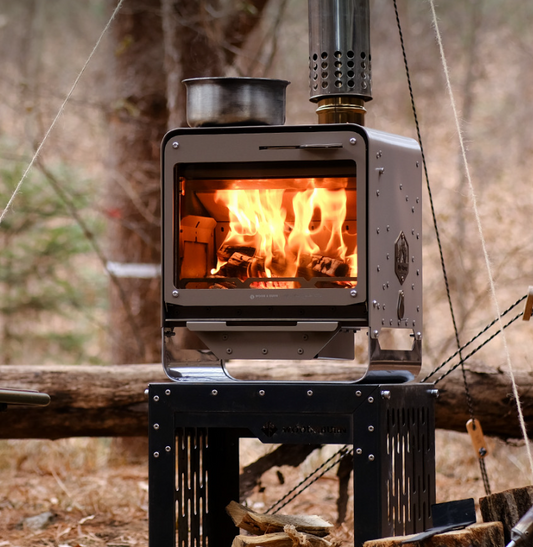
[[[364,125],[372,99],[368,0],[309,0],[310,100],[319,123]]]

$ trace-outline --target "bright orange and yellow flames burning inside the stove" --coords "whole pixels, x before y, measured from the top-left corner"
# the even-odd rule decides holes
[[[292,286],[276,278],[357,277],[357,236],[346,225],[346,190],[309,182],[303,190],[217,190],[215,202],[227,210],[229,230],[211,273],[228,275],[237,263],[238,277],[272,278],[253,285],[269,288]]]

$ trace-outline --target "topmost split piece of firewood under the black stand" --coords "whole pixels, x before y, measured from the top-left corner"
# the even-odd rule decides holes
[[[283,532],[287,526],[293,526],[296,531],[315,537],[327,536],[333,529],[332,524],[317,515],[262,515],[235,501],[226,507],[226,512],[235,526],[261,536],[266,532]]]

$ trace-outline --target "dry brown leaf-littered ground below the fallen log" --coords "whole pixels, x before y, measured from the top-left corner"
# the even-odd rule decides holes
[[[265,452],[245,441],[243,464]],[[0,547],[135,547],[148,545],[148,470],[145,461],[117,457],[109,439],[0,441]],[[493,492],[531,482],[521,443],[490,440],[487,468]],[[268,447],[268,450],[272,447]],[[297,469],[273,468],[247,504],[261,512],[336,447],[316,451]],[[466,435],[437,432],[437,501],[484,495]],[[337,478],[329,471],[288,505],[288,514],[336,520]],[[349,509],[349,513],[350,513]],[[351,514],[334,534],[351,544]],[[229,546],[228,546],[229,547]]]

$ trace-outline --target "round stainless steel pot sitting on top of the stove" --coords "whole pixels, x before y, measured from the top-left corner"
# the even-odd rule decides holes
[[[189,127],[285,123],[286,80],[191,78],[183,83]]]

